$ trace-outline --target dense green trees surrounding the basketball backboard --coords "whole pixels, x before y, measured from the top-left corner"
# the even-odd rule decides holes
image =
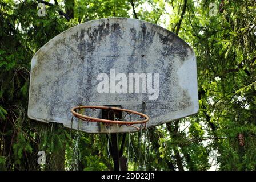
[[[40,2],[46,16],[38,15]],[[131,134],[129,169],[256,170],[255,7],[246,0],[0,1],[0,169],[113,169],[105,135],[27,118],[30,62],[67,28],[130,17],[163,26],[194,48],[199,113]],[[37,163],[38,151],[46,152],[45,165]]]

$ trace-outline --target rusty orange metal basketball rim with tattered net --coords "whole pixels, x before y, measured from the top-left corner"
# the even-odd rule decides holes
[[[118,110],[118,111],[123,111],[123,112],[126,112],[128,115],[130,114],[136,114],[136,115],[139,115],[141,118],[144,118],[143,120],[139,120],[139,121],[122,121],[122,119],[120,118],[117,118],[118,120],[109,120],[109,119],[100,119],[100,118],[93,118],[93,117],[89,117],[87,115],[83,115],[83,114],[79,114],[77,113],[77,110],[78,109],[106,109],[106,110]],[[146,127],[146,123],[149,121],[149,117],[146,115],[146,114],[143,114],[143,113],[139,113],[137,111],[133,111],[133,110],[128,110],[128,109],[121,109],[121,108],[118,108],[118,107],[107,107],[107,106],[76,106],[76,107],[73,107],[71,109],[71,113],[83,120],[83,121],[88,121],[88,122],[102,122],[102,123],[105,123],[106,125],[111,125],[111,124],[118,124],[118,125],[126,125],[126,126],[131,126],[131,127],[134,127],[135,129],[138,129],[138,130],[142,130],[142,129],[145,129]],[[127,115],[126,114],[126,115]],[[134,126],[134,125],[137,125],[137,124],[141,124],[140,127],[137,127],[137,126]]]

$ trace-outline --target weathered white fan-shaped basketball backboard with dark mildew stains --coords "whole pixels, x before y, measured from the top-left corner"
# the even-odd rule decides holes
[[[195,53],[172,32],[142,20],[99,19],[70,28],[32,59],[28,115],[71,127],[70,109],[79,105],[121,105],[149,115],[147,127],[195,114]],[[101,118],[101,111],[86,115]],[[98,122],[80,126],[88,133],[109,132]],[[125,125],[110,126],[111,133],[127,131]]]

